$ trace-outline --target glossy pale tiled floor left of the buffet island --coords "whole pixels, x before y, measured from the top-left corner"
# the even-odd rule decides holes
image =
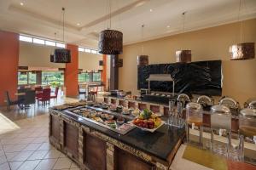
[[[64,101],[61,99],[58,104]],[[48,106],[36,106],[27,111],[14,108],[6,111],[1,108],[0,170],[79,169],[73,161],[49,144],[47,111]]]

